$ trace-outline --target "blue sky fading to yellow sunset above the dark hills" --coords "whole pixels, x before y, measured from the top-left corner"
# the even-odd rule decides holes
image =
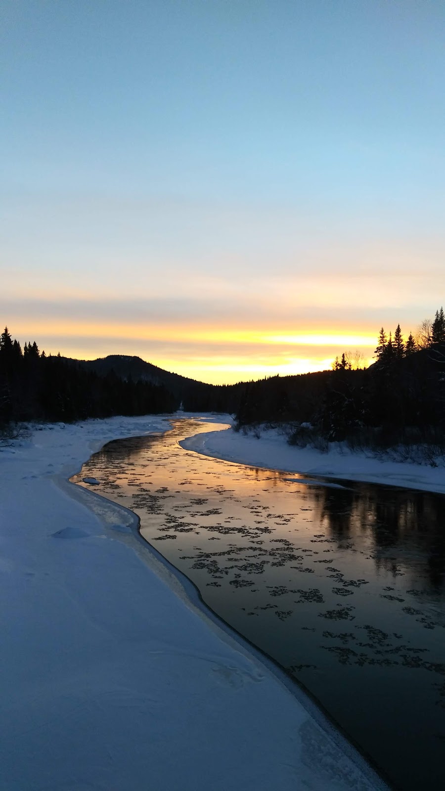
[[[233,382],[445,304],[443,0],[3,0],[0,324]]]

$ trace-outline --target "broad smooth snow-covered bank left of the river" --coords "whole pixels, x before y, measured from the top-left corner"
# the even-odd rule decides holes
[[[93,480],[67,483],[106,441],[168,427],[158,416],[35,426],[0,452],[2,788],[383,788],[150,551],[130,512]]]

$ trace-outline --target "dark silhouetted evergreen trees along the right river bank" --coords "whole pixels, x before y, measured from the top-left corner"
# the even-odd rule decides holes
[[[443,308],[406,342],[400,324],[394,335],[382,328],[375,357],[365,368],[345,352],[331,371],[245,384],[238,426],[287,422],[295,427],[292,441],[302,445],[314,440],[320,446],[348,441],[382,449],[423,445],[428,452],[434,446],[439,455],[445,453]]]

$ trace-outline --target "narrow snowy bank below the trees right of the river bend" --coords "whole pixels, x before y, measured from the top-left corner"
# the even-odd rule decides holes
[[[184,440],[181,445],[205,456],[253,467],[445,494],[443,467],[381,460],[371,453],[348,451],[337,443],[331,443],[329,451],[324,453],[314,448],[287,445],[287,437],[277,429],[263,428],[259,433],[257,438],[253,433],[235,432],[230,427],[224,431],[198,434]],[[299,483],[305,482],[299,480]]]

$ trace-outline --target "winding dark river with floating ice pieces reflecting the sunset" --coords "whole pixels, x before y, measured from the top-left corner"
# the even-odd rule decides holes
[[[126,505],[227,623],[303,683],[402,789],[443,787],[445,498],[118,440],[74,482]],[[326,482],[328,483],[328,482]]]

